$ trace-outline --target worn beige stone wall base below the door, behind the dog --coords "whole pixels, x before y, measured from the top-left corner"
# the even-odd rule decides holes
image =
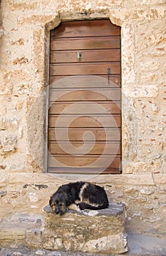
[[[64,176],[43,173],[0,172],[0,219],[13,211],[43,214],[50,195],[61,184],[69,181],[92,181],[105,187],[110,203],[124,203],[127,211],[127,232],[153,234],[166,237],[165,226],[165,174],[129,174],[114,176]],[[2,168],[1,167],[1,168]],[[5,211],[4,211],[5,209]]]

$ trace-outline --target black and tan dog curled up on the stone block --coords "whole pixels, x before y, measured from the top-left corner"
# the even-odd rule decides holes
[[[89,182],[73,182],[62,185],[50,197],[50,207],[56,214],[64,214],[68,209],[99,210],[109,206],[105,189]]]

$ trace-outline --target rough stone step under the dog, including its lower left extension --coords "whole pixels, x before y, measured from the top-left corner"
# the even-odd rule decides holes
[[[62,216],[46,206],[45,215],[12,214],[2,220],[0,246],[118,255],[127,252],[124,222],[121,204],[99,211],[67,211]]]

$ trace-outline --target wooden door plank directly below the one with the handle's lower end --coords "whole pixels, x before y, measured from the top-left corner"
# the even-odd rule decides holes
[[[121,100],[121,89],[50,89],[50,102],[64,101],[117,101]]]

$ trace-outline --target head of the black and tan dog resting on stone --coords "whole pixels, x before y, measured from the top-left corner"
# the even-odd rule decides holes
[[[50,197],[50,207],[55,214],[62,215],[67,211],[67,195],[64,192],[55,193]]]

